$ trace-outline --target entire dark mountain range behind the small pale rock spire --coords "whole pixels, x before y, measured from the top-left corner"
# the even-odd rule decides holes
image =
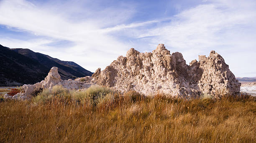
[[[10,49],[0,45],[0,61],[0,86],[34,84],[43,80],[51,67],[58,67],[61,79],[92,75],[74,62],[61,61],[30,49]]]

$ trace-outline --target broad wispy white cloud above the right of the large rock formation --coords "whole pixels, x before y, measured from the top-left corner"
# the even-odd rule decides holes
[[[144,45],[131,41],[141,49],[153,49],[164,43],[171,52],[182,52],[187,63],[199,54],[208,55],[210,50],[216,50],[235,75],[246,76],[241,69],[256,71],[252,66],[252,61],[256,61],[252,55],[256,53],[255,9],[256,2],[252,0],[211,0],[183,10],[170,17],[170,22],[123,31],[127,37],[141,39],[139,42]]]

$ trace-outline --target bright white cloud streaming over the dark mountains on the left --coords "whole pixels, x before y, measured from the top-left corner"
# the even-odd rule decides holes
[[[104,24],[99,26],[99,23],[97,23],[99,20],[94,22],[92,17],[89,17],[90,20],[88,21],[74,22],[68,19],[69,15],[64,17],[63,13],[59,14],[46,10],[46,7],[51,6],[38,7],[26,0],[0,1],[0,24],[47,37],[47,40],[33,38],[29,41],[9,37],[0,39],[0,42],[8,47],[28,47],[35,52],[43,52],[61,60],[74,61],[92,72],[98,67],[105,68],[120,53],[125,54],[125,51],[129,48],[128,45],[103,32],[100,26]],[[123,12],[126,17],[130,17],[131,14],[127,12],[128,10],[123,11],[126,11]],[[93,12],[95,11],[91,13]],[[103,14],[102,12],[105,12],[105,9],[95,13]],[[120,18],[120,15],[123,15],[122,12],[119,13],[121,14],[115,18],[111,18],[111,16],[108,16],[108,18],[112,22],[113,19],[117,21],[118,17]],[[104,15],[97,15],[97,18],[102,17],[104,19]],[[125,18],[122,17],[120,21],[123,21],[123,19]],[[107,21],[105,22],[107,23]],[[61,50],[45,46],[47,43],[58,40],[72,41],[75,46]],[[77,54],[80,57],[77,57]]]

